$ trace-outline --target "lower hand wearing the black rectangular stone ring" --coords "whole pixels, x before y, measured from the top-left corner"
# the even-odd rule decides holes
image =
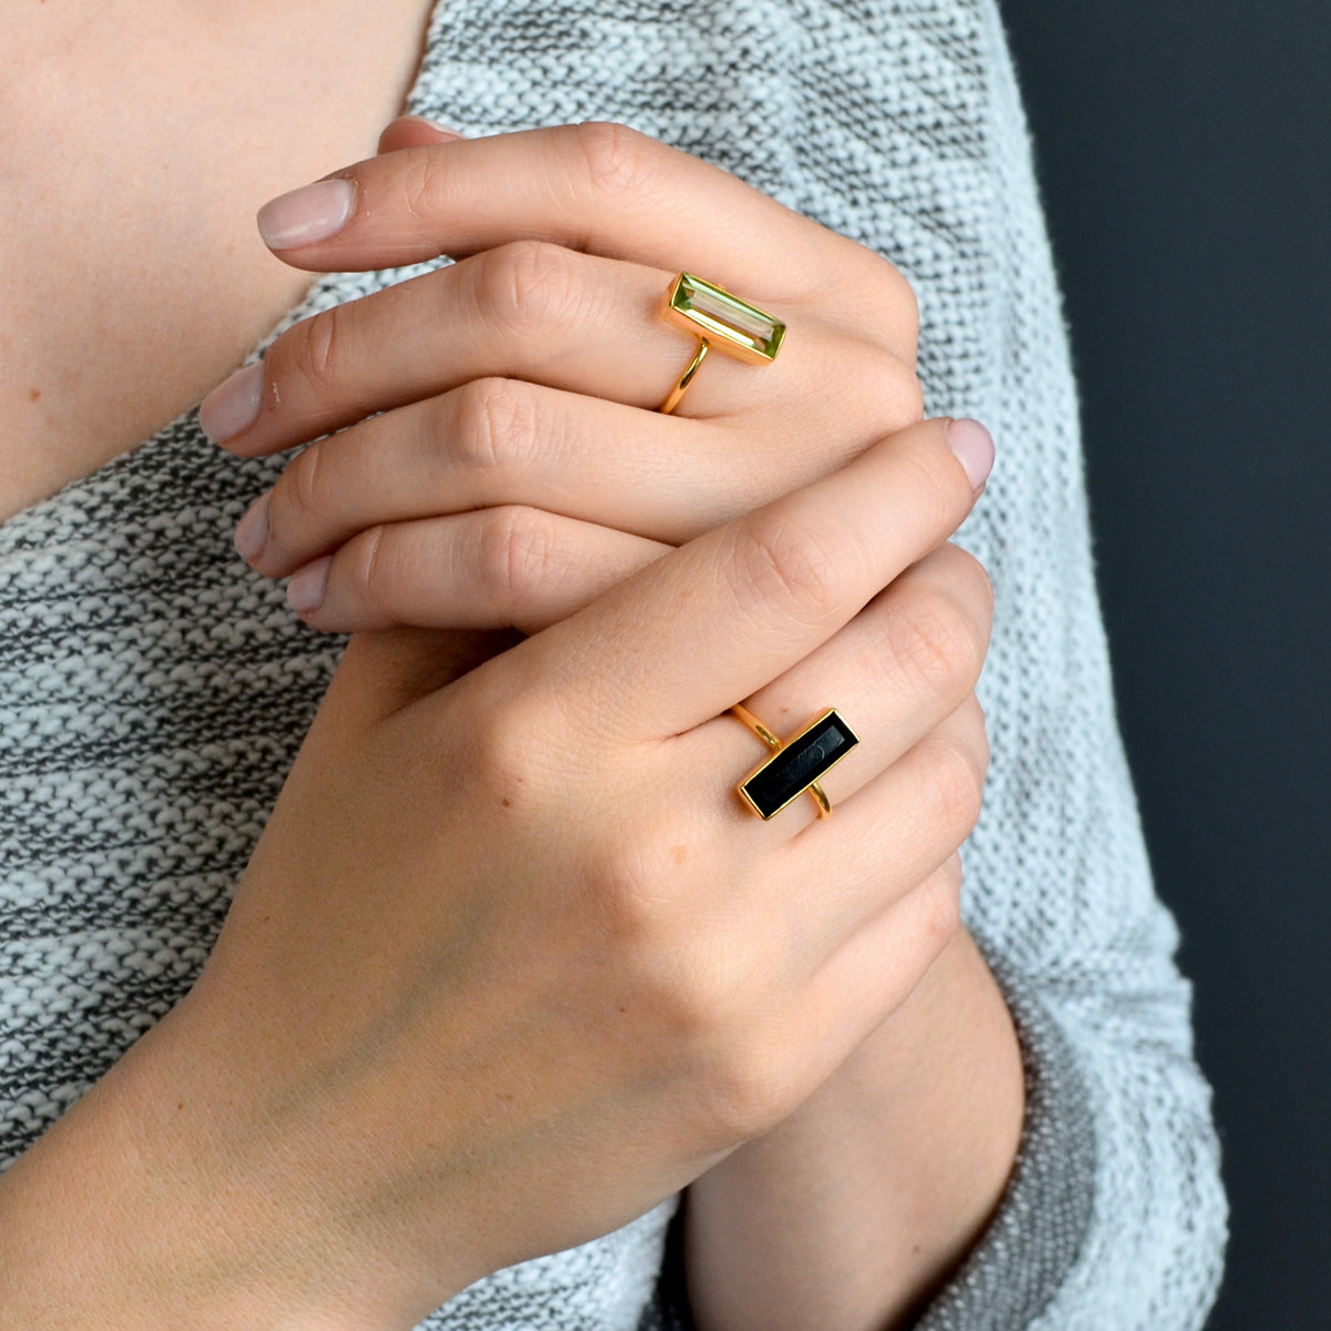
[[[198,985],[102,1083],[137,1143],[95,1207],[120,1287],[410,1327],[787,1118],[956,928],[972,498],[921,425],[442,689],[427,634],[357,638]],[[744,697],[858,728],[829,821],[741,809]],[[81,1111],[11,1183],[0,1276],[40,1262],[31,1181]]]

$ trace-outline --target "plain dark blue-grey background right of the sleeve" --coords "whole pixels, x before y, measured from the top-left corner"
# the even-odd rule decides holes
[[[1001,0],[1101,594],[1233,1206],[1209,1331],[1331,1326],[1331,0]]]

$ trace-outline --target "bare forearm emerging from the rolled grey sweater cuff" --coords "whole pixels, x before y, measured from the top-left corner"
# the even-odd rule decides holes
[[[813,1099],[688,1190],[699,1331],[908,1322],[992,1217],[1022,1106],[1012,1020],[960,934]]]

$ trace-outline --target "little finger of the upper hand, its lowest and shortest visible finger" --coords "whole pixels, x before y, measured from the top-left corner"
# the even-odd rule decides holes
[[[516,628],[567,619],[669,547],[508,504],[371,527],[303,566],[287,600],[330,632]]]

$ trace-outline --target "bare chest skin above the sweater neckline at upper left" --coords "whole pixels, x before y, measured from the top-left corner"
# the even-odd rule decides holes
[[[254,209],[373,150],[427,11],[3,7],[0,518],[192,407],[299,299],[309,278],[254,242]]]

